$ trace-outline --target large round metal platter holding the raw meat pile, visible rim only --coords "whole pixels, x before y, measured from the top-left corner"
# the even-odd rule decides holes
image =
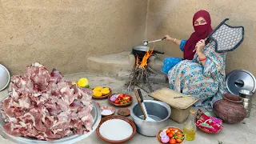
[[[6,97],[7,98],[7,97]],[[0,102],[2,102],[4,99],[6,98],[2,98]],[[81,141],[82,139],[88,137],[90,134],[92,134],[94,132],[94,130],[97,129],[99,122],[101,122],[101,112],[99,110],[98,105],[93,101],[94,104],[94,108],[93,110],[91,110],[92,116],[94,117],[94,124],[92,126],[93,130],[90,130],[89,133],[87,134],[75,134],[75,135],[70,135],[69,137],[63,137],[57,140],[54,140],[53,142],[47,142],[47,141],[43,141],[43,140],[39,140],[36,138],[25,138],[25,137],[15,137],[13,135],[7,134],[6,131],[3,129],[3,126],[6,124],[6,122],[4,122],[2,120],[2,117],[0,116],[0,134],[2,135],[3,138],[6,138],[12,142],[15,143],[20,143],[20,144],[35,144],[35,143],[40,143],[40,144],[72,144],[74,142],[78,142]]]

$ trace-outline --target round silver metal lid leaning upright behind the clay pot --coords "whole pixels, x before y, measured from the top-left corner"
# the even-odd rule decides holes
[[[233,70],[226,75],[226,88],[231,94],[239,95],[239,90],[255,92],[256,80],[247,70]]]

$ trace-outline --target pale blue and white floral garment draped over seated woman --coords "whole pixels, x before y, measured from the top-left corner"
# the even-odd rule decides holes
[[[210,111],[226,90],[226,53],[216,53],[214,47],[214,42],[210,42],[203,49],[207,57],[205,66],[199,61],[198,54],[194,54],[193,60],[178,62],[168,72],[170,89],[199,98],[195,106]]]

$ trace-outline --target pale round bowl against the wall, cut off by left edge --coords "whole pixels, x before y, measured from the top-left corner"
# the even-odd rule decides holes
[[[4,90],[10,82],[10,73],[5,66],[0,64],[0,91]]]

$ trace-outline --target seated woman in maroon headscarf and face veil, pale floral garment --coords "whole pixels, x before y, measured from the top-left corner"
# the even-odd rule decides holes
[[[193,25],[195,32],[184,46],[185,60],[178,62],[168,72],[170,89],[198,98],[195,106],[203,106],[211,111],[213,103],[221,99],[226,90],[226,54],[216,53],[215,43],[211,41],[206,44],[203,40],[212,31],[208,12],[200,10],[194,14]]]

